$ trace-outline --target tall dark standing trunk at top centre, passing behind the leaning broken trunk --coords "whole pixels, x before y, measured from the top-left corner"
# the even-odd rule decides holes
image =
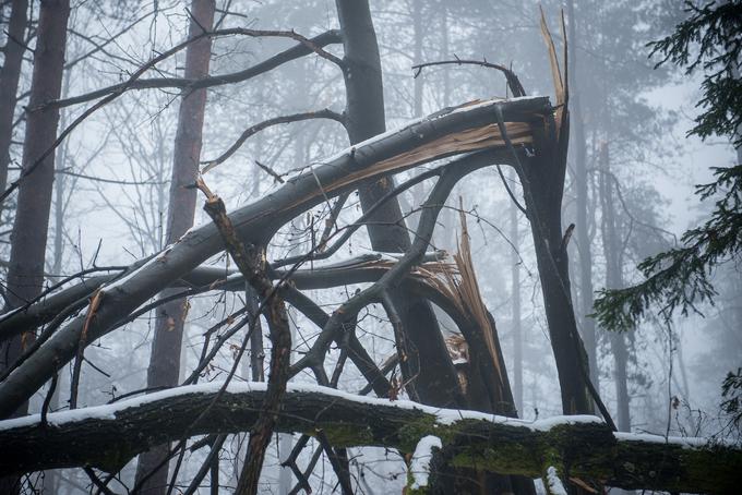
[[[357,144],[386,130],[384,94],[376,35],[368,1],[337,0],[343,32],[343,59],[347,94],[347,130],[350,144]],[[359,189],[361,207],[368,210],[394,188],[394,180],[384,178]],[[388,201],[372,218],[368,231],[376,251],[405,252],[410,247],[409,236],[396,198]],[[448,358],[445,342],[431,305],[420,299],[392,290],[395,305],[410,348],[410,370],[420,400],[435,406],[463,406],[458,378]]]

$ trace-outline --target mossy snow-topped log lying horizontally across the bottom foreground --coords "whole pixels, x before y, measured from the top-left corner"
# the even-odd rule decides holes
[[[109,471],[167,440],[249,431],[265,384],[180,387],[112,405],[0,422],[0,474],[88,466]],[[194,420],[208,409],[202,421]],[[314,385],[289,385],[277,431],[314,434],[335,446],[385,446],[414,452],[421,438],[441,439],[446,461],[499,473],[605,483],[623,488],[732,493],[742,448],[703,438],[614,434],[598,418],[536,422],[481,412],[390,401]],[[431,472],[431,483],[435,473]]]

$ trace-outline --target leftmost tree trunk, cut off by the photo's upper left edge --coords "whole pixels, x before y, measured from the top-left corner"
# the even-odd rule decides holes
[[[0,192],[8,186],[15,97],[21,77],[23,52],[26,50],[22,43],[28,23],[28,0],[15,0],[12,5],[8,22],[8,40],[3,47],[4,60],[0,69]]]

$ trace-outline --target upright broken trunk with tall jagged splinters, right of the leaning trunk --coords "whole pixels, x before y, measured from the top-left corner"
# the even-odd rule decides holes
[[[564,24],[562,20],[562,34]],[[562,410],[565,414],[593,413],[593,401],[601,406],[597,391],[591,388],[587,354],[577,331],[570,283],[570,263],[566,246],[571,229],[562,233],[562,196],[566,173],[566,154],[570,142],[569,84],[566,74],[566,40],[562,69],[556,48],[541,13],[541,33],[549,49],[551,73],[556,94],[558,109],[547,118],[547,123],[534,128],[535,153],[516,158],[515,169],[523,185],[526,214],[534,237],[534,250],[541,280],[541,293],[549,324],[551,348],[554,352]],[[505,141],[507,130],[501,125]],[[508,147],[514,150],[513,146]],[[515,153],[515,152],[513,152]],[[601,409],[606,421],[612,422]]]

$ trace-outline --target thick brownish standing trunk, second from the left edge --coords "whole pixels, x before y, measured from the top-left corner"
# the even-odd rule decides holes
[[[13,36],[20,36],[20,39],[23,38],[23,28],[25,27],[26,5],[23,3],[25,2],[13,4],[13,16],[15,17],[16,8],[23,11],[23,15],[21,16],[19,12],[19,17],[12,20],[15,21],[16,25],[11,24],[9,26],[11,29],[20,29],[20,32],[13,32]],[[67,20],[69,15],[69,0],[48,0],[41,2],[36,49],[34,50],[31,100],[28,102],[31,109],[34,109],[44,101],[57,99],[60,96],[64,65],[64,46],[67,43]],[[14,76],[14,82],[10,81],[10,79],[13,77],[13,63],[17,63],[17,70],[20,71],[21,61],[16,60],[16,58],[22,58],[23,49],[11,41],[9,41],[8,47],[10,53],[5,52],[2,89],[12,93],[12,96],[3,94],[0,108],[3,109],[3,113],[5,111],[10,113],[12,124],[17,74]],[[11,57],[10,60],[8,57]],[[9,63],[11,65],[8,65]],[[5,80],[5,67],[8,67],[8,81]],[[5,86],[5,83],[8,83],[8,86]],[[7,108],[5,105],[10,102],[13,105]],[[7,117],[2,116],[3,119]],[[28,112],[26,135],[23,143],[24,170],[33,167],[37,159],[53,144],[57,137],[58,122],[59,110],[32,110]],[[8,140],[10,141],[12,131],[10,129],[8,131]],[[5,135],[4,130],[2,135]],[[7,156],[4,150],[1,152],[3,152],[3,157]],[[4,168],[7,172],[7,166]],[[3,176],[3,181],[7,178],[5,172],[0,172]],[[55,154],[49,153],[34,170],[31,180],[26,180],[21,184],[11,237],[10,268],[8,270],[7,285],[8,305],[5,311],[24,304],[41,292],[53,180]],[[4,186],[2,190],[4,191]],[[33,340],[33,331],[24,331],[2,342],[0,346],[0,369],[4,370],[12,364],[21,355],[25,345]],[[27,402],[23,402],[14,409],[14,414],[23,415],[26,413]],[[0,479],[0,492],[2,493],[14,493],[17,492],[19,487],[17,478]]]

